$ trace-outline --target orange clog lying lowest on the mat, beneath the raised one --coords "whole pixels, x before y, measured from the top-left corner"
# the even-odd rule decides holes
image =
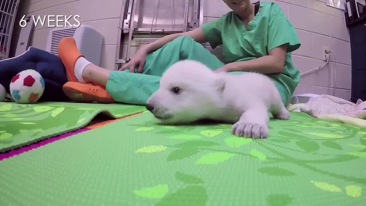
[[[105,88],[94,84],[69,81],[63,85],[62,89],[66,96],[74,102],[105,104],[116,102]]]

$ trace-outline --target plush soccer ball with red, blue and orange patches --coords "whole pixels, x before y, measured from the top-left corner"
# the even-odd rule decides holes
[[[35,103],[41,98],[45,82],[40,73],[28,69],[19,72],[10,82],[10,94],[17,103]]]

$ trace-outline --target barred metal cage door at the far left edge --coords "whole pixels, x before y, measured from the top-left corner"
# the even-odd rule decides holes
[[[18,4],[19,0],[1,0],[0,3],[0,60],[9,58],[11,35]]]

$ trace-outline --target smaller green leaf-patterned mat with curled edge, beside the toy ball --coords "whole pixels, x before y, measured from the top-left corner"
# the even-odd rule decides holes
[[[128,104],[0,102],[0,152],[80,129],[97,114],[122,118],[145,110]]]

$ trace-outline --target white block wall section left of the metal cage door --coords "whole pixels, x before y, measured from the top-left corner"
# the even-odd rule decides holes
[[[29,0],[27,15],[79,15],[82,24],[94,27],[104,37],[101,66],[113,70],[117,48],[117,32],[122,0]],[[107,3],[108,2],[108,3]],[[71,21],[70,23],[76,23]],[[55,22],[52,22],[54,24]],[[51,28],[40,24],[34,28],[31,45],[45,49]]]

